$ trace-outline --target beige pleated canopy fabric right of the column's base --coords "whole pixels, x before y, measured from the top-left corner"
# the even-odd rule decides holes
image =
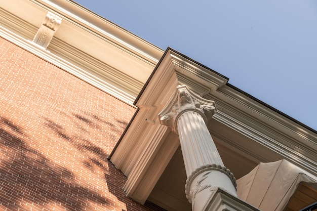
[[[317,177],[283,159],[260,163],[237,180],[237,195],[263,211],[282,211],[301,182],[317,184]]]

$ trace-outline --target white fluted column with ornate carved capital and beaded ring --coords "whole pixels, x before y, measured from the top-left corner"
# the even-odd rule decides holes
[[[187,175],[186,197],[193,211],[201,211],[218,188],[236,196],[236,183],[206,125],[216,112],[214,101],[195,95],[186,86],[177,87],[177,91],[159,116],[162,124],[179,135]]]

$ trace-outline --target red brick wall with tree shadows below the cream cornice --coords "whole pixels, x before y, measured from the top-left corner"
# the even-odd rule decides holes
[[[135,109],[0,37],[0,209],[160,210],[107,160]]]

